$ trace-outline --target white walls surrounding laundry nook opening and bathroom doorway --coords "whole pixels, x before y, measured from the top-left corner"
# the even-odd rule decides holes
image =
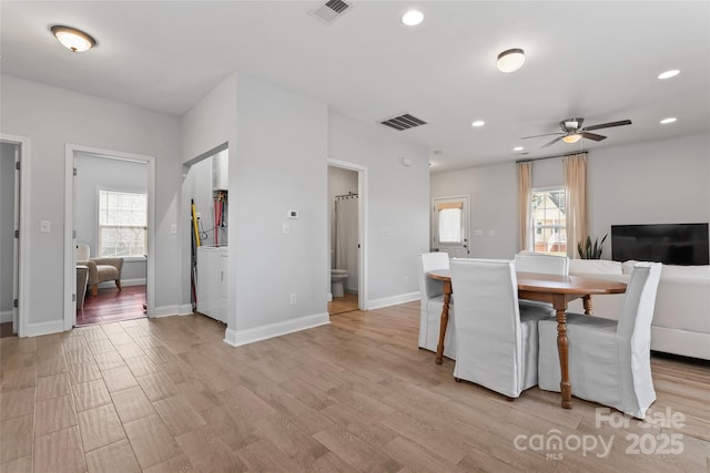
[[[428,239],[426,150],[242,73],[226,78],[183,115],[181,135],[183,163],[224,142],[230,146],[227,342],[327,320],[328,157],[369,169],[368,287],[376,299],[371,302],[418,297],[416,255]],[[404,156],[410,167],[403,166]],[[184,188],[193,192],[189,178]],[[189,215],[189,197],[183,200]],[[297,219],[287,218],[291,209],[300,212]],[[298,304],[290,304],[292,294]]]

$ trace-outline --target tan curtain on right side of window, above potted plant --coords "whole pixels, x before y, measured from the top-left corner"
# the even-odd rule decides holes
[[[565,198],[567,204],[567,256],[576,258],[577,243],[589,235],[587,217],[587,154],[565,158]]]

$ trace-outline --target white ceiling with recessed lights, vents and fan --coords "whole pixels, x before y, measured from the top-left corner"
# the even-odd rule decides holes
[[[317,1],[0,2],[0,66],[14,75],[181,115],[233,71],[313,96],[426,146],[432,171],[539,157],[710,130],[708,1],[363,1],[332,24]],[[414,28],[399,17],[425,13]],[[49,32],[92,34],[84,53]],[[518,72],[497,54],[521,48]],[[674,79],[660,72],[679,69]],[[397,132],[409,112],[427,125]],[[608,136],[540,150],[558,122],[629,119]],[[660,125],[667,116],[678,122]],[[486,125],[474,128],[474,120]],[[514,152],[525,146],[527,155]],[[434,153],[439,151],[440,153]]]

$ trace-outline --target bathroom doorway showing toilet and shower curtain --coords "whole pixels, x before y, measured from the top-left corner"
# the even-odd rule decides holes
[[[366,169],[328,162],[328,313],[365,308],[364,212]]]

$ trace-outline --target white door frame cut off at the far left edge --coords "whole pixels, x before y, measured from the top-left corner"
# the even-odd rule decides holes
[[[26,136],[10,135],[0,133],[0,142],[11,143],[18,146],[19,162],[20,162],[20,188],[14,189],[14,196],[19,199],[16,205],[19,205],[19,218],[20,218],[20,237],[17,238],[18,257],[17,269],[13,270],[13,284],[17,284],[17,294],[14,296],[18,299],[17,309],[17,331],[18,337],[27,337],[28,313],[27,305],[29,299],[30,280],[27,268],[29,268],[28,255],[29,241],[30,241],[30,209],[29,209],[29,196],[30,196],[30,179],[28,168],[30,166],[30,140]],[[14,223],[13,223],[14,224]],[[14,311],[14,309],[13,309]],[[14,321],[14,320],[13,320]]]

